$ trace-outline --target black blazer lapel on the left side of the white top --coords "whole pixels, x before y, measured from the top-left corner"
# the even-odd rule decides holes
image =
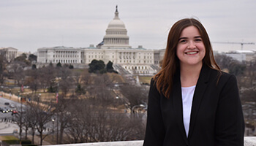
[[[187,145],[189,141],[187,139],[186,131],[183,122],[183,107],[182,107],[182,97],[181,97],[181,80],[179,71],[176,73],[173,79],[173,92],[171,98],[173,99],[173,109],[176,113],[176,121],[178,123],[178,128],[181,131],[182,137]]]

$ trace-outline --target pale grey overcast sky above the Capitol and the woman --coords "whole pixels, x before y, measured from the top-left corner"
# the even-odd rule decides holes
[[[102,41],[118,5],[129,45],[165,48],[170,27],[197,18],[214,50],[241,50],[256,43],[255,0],[7,0],[0,1],[0,47],[34,53],[40,47],[89,47]],[[244,50],[256,45],[244,45]]]

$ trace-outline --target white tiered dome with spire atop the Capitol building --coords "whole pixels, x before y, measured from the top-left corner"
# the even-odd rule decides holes
[[[129,46],[127,28],[125,28],[124,22],[120,20],[118,14],[119,12],[116,6],[115,17],[108,23],[101,48],[131,48]]]

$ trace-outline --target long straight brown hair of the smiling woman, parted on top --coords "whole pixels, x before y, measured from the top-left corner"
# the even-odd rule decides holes
[[[167,99],[170,98],[170,93],[173,89],[174,74],[177,72],[177,69],[179,69],[179,60],[176,55],[178,39],[181,36],[181,31],[188,26],[195,26],[203,39],[203,44],[206,47],[206,55],[203,58],[203,64],[209,66],[211,69],[217,69],[219,74],[221,74],[220,68],[214,59],[210,39],[203,25],[194,18],[178,20],[173,27],[170,28],[167,46],[165,49],[165,56],[162,61],[162,69],[153,77],[154,80],[157,79],[155,82],[155,85],[157,85],[157,90],[160,93],[163,93]]]

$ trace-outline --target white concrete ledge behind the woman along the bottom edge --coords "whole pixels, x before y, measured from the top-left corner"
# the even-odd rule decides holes
[[[59,146],[142,146],[143,140],[122,142],[93,142],[80,144],[67,144]],[[58,145],[54,145],[58,146]],[[244,137],[244,146],[256,146],[256,137]]]

